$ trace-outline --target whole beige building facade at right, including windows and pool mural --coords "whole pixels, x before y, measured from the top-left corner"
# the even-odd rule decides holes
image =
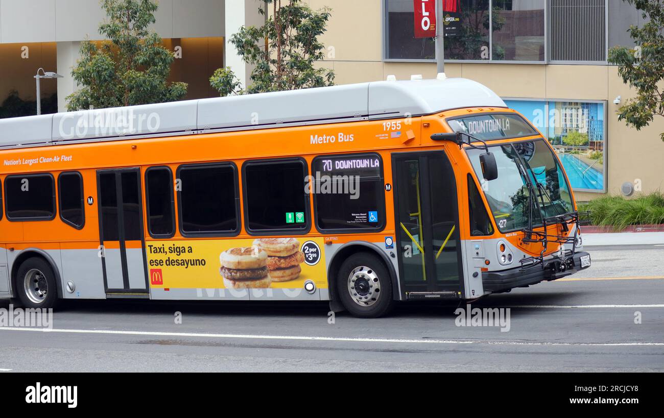
[[[436,76],[434,40],[414,37],[413,0],[309,3],[333,9],[321,65],[338,84]],[[460,17],[445,38],[447,76],[485,84],[529,118],[558,149],[577,200],[620,194],[625,183],[664,189],[664,119],[641,131],[618,121],[634,93],[608,64],[610,48],[634,46],[627,31],[643,23],[639,11],[622,0],[446,3]]]

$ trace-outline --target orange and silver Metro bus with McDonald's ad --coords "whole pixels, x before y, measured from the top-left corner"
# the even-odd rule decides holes
[[[0,121],[0,297],[476,299],[590,266],[542,134],[435,80]]]

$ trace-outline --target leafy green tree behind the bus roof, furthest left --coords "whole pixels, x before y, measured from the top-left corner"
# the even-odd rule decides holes
[[[167,82],[173,52],[149,25],[155,23],[154,0],[102,0],[107,19],[99,46],[82,42],[72,77],[82,88],[67,96],[67,109],[163,103],[180,100],[187,84]]]

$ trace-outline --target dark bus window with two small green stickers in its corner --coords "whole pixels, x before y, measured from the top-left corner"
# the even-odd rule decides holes
[[[307,165],[301,159],[250,161],[242,167],[248,232],[264,234],[309,230]]]

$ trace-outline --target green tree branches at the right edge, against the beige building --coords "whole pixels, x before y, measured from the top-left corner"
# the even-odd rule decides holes
[[[618,119],[641,130],[655,116],[664,116],[664,4],[662,0],[623,1],[641,11],[646,23],[629,29],[637,46],[612,48],[609,62],[618,65],[623,82],[636,90],[636,97],[618,109]],[[661,139],[664,141],[664,133]]]

